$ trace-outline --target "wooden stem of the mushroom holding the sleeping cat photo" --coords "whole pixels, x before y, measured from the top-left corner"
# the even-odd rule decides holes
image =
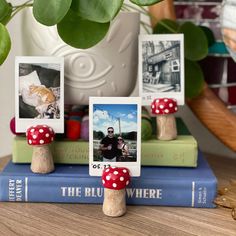
[[[31,170],[34,173],[46,174],[54,170],[54,162],[49,145],[33,146]]]

